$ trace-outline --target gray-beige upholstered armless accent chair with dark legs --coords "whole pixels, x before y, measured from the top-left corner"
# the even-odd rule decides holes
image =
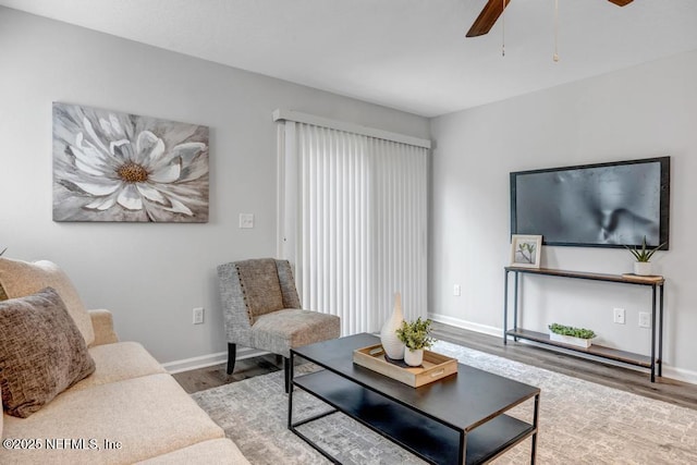
[[[285,392],[290,390],[291,348],[339,338],[340,319],[304,310],[288,260],[257,258],[218,267],[228,336],[228,375],[237,344],[283,356]]]

